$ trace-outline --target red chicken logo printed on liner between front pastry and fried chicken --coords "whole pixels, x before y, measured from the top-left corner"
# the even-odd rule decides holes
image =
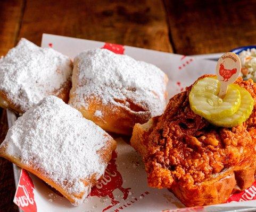
[[[126,200],[131,188],[123,188],[123,179],[120,172],[117,170],[117,165],[115,164],[115,158],[117,158],[117,153],[113,151],[112,159],[106,167],[105,174],[103,178],[98,182],[95,187],[92,188],[90,196],[105,197],[108,196],[111,199],[111,205],[104,208],[102,211],[112,208],[117,205],[119,201],[115,200],[113,191],[119,189],[123,193],[123,200]]]

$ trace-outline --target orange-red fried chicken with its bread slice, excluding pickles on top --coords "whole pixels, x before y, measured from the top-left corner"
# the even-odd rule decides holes
[[[235,83],[256,101],[252,80]],[[191,110],[191,88],[171,98],[162,116],[136,124],[131,145],[143,157],[151,187],[170,189],[186,206],[219,204],[255,180],[256,104],[242,125],[216,127]]]

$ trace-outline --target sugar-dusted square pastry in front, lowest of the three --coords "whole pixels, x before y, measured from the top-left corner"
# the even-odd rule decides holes
[[[9,129],[0,156],[78,205],[104,174],[115,147],[103,129],[61,99],[48,96]]]

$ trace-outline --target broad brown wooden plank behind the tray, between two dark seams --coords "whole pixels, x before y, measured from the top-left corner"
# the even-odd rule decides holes
[[[28,0],[19,37],[42,33],[172,51],[161,0]]]

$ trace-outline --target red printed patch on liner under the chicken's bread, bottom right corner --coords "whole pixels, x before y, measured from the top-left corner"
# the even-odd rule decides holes
[[[256,199],[256,181],[252,184],[252,186],[248,189],[245,189],[244,191],[240,193],[235,193],[234,195],[231,195],[227,202],[243,202],[248,200],[255,200]]]

